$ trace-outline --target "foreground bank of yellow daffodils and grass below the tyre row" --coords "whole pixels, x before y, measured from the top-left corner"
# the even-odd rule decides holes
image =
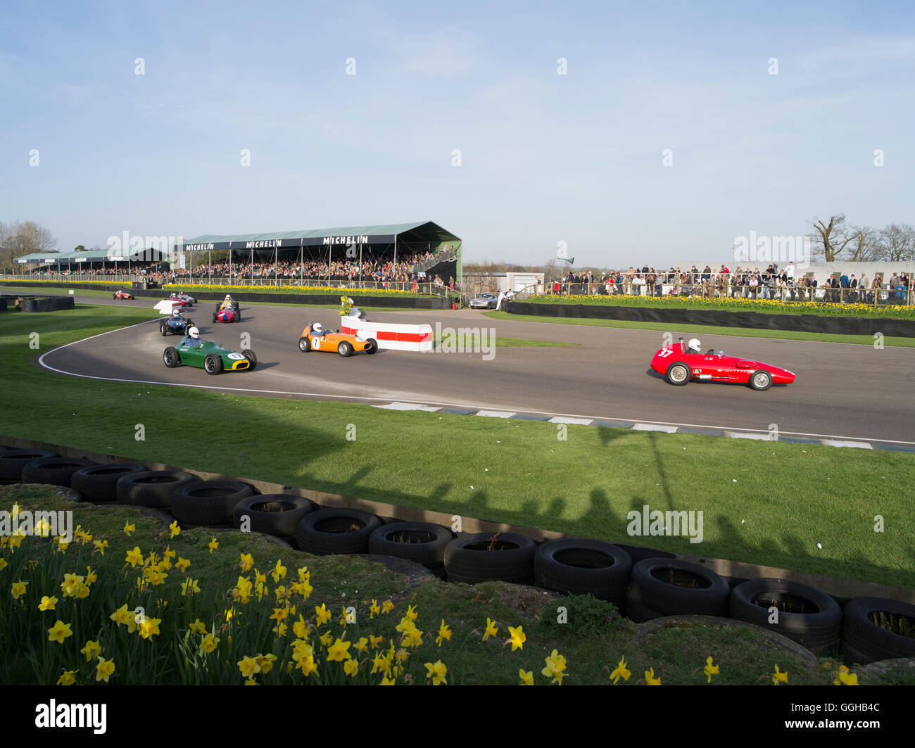
[[[590,597],[404,577],[138,508],[0,488],[0,509],[72,510],[73,535],[0,540],[0,682],[20,684],[915,683],[816,666],[750,627],[636,627]],[[557,611],[565,608],[565,622]],[[860,680],[859,680],[860,678]]]

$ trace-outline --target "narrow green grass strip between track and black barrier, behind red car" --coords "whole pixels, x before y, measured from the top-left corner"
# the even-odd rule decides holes
[[[681,333],[699,333],[706,335],[728,335],[735,337],[768,337],[774,340],[812,340],[817,343],[851,343],[860,346],[873,346],[872,335],[831,335],[826,333],[805,333],[794,330],[754,330],[747,327],[718,327],[713,325],[672,325],[666,322],[633,322],[625,319],[579,319],[576,317],[550,317],[534,315],[509,315],[505,312],[484,312],[493,319],[505,319],[511,322],[545,322],[552,325],[585,325],[590,327],[618,327],[627,330],[676,330]],[[915,337],[883,338],[884,346],[912,348]]]

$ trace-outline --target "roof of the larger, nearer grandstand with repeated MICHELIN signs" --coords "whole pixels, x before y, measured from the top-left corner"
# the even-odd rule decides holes
[[[301,247],[320,244],[391,244],[394,237],[406,242],[460,241],[431,220],[372,226],[337,226],[330,229],[274,231],[262,234],[201,234],[178,250],[247,250],[265,247]]]

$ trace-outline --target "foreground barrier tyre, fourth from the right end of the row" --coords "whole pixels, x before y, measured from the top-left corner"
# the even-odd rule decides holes
[[[630,554],[602,540],[550,540],[533,554],[533,582],[545,590],[593,594],[620,607],[632,572]]]

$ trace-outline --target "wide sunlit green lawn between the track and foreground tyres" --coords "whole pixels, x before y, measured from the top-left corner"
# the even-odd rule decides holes
[[[5,435],[661,550],[915,578],[911,454],[575,425],[560,441],[553,423],[100,382],[32,363],[33,331],[47,351],[156,316],[92,305],[0,316]],[[703,510],[704,541],[631,538],[627,513],[643,504]],[[876,515],[885,532],[874,531]]]

